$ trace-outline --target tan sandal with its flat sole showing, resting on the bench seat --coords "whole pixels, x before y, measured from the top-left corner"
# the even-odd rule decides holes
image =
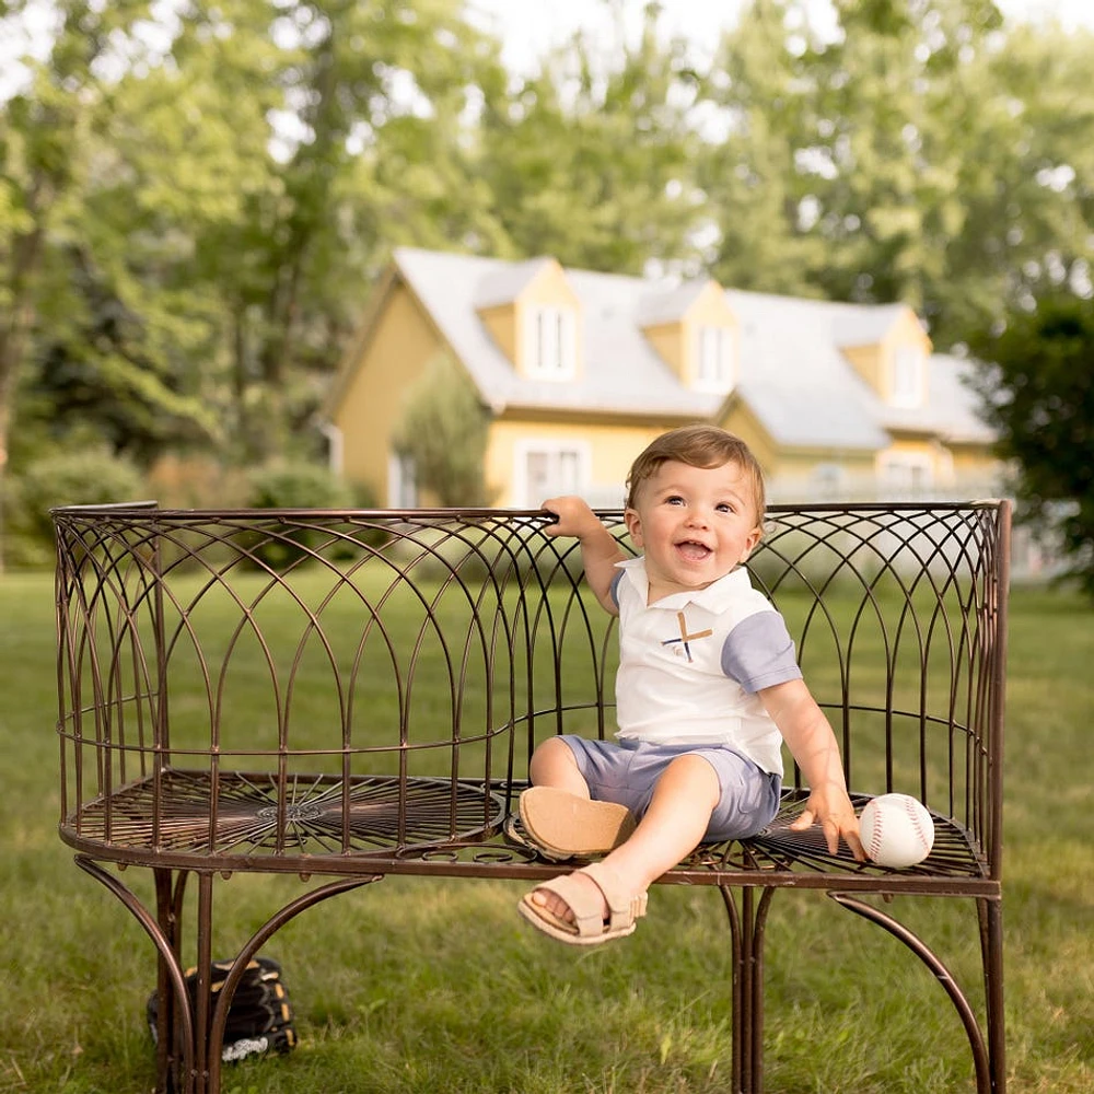
[[[521,823],[528,838],[554,859],[606,854],[630,839],[635,814],[615,802],[594,802],[557,787],[521,794]]]

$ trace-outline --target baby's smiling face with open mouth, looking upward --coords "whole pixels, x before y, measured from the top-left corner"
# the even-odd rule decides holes
[[[705,589],[743,562],[760,537],[752,484],[733,463],[666,461],[639,486],[626,519],[645,555],[651,601]]]

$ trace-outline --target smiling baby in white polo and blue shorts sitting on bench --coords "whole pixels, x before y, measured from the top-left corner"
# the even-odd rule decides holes
[[[810,785],[791,826],[818,823],[865,858],[839,746],[802,679],[782,617],[742,563],[765,511],[758,464],[712,426],[659,437],[627,480],[627,559],[580,498],[551,498],[552,536],[581,543],[585,579],[619,616],[617,742],[562,735],[532,757],[521,817],[549,856],[598,862],[527,894],[521,913],[560,941],[635,930],[647,889],[700,842],[744,839],[779,807],[784,741]]]

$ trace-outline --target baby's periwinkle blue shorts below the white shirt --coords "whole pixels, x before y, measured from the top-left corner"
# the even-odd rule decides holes
[[[714,769],[722,794],[702,841],[746,839],[766,828],[779,811],[782,779],[728,745],[660,745],[644,741],[598,741],[563,734],[578,770],[597,802],[618,802],[637,817],[677,756],[701,756]]]

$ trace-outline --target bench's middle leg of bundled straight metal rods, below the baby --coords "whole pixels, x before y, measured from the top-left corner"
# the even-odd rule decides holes
[[[745,886],[740,907],[731,886],[719,889],[733,940],[733,1091],[763,1094],[764,933],[775,889],[764,888],[757,900],[755,887]]]

